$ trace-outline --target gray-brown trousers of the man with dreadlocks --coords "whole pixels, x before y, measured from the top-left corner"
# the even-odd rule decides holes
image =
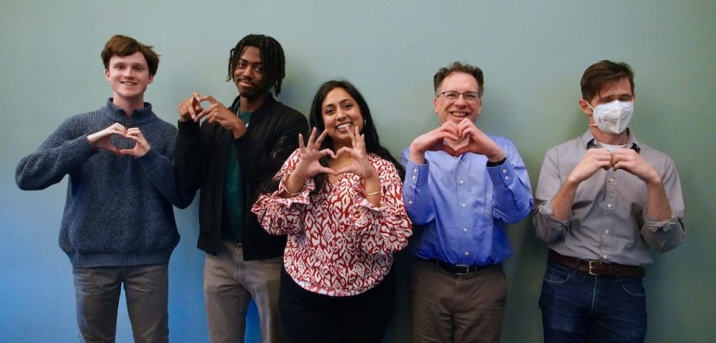
[[[283,257],[243,260],[240,243],[222,241],[216,256],[204,264],[204,299],[212,343],[244,340],[246,311],[253,298],[263,342],[288,342],[279,317],[279,285]]]

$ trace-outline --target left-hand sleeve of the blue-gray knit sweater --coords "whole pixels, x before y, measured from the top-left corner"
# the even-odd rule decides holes
[[[40,190],[59,183],[97,153],[74,117],[65,120],[37,150],[20,160],[15,182],[22,190]]]

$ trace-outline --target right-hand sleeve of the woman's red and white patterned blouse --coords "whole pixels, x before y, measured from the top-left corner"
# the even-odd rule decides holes
[[[380,176],[380,206],[374,206],[364,195],[360,183],[354,202],[354,232],[359,246],[368,253],[392,253],[407,246],[407,238],[412,235],[412,223],[405,212],[402,201],[402,182],[400,176],[387,160],[372,159],[373,168]]]

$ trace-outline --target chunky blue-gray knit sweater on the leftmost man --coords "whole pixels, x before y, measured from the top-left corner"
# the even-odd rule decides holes
[[[133,158],[92,148],[87,135],[115,122],[139,127],[149,152]],[[44,189],[69,175],[59,246],[74,268],[169,261],[179,242],[172,205],[185,208],[190,202],[175,182],[176,135],[149,103],[127,117],[110,99],[99,110],[65,120],[20,161],[15,180],[24,190]],[[120,136],[112,142],[120,149],[134,145]]]

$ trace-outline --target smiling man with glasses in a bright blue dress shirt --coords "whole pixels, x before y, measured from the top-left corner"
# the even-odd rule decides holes
[[[504,223],[530,212],[527,170],[515,145],[475,122],[483,72],[454,62],[434,77],[440,127],[402,153],[408,216],[423,226],[410,275],[412,342],[498,342],[512,255]]]

